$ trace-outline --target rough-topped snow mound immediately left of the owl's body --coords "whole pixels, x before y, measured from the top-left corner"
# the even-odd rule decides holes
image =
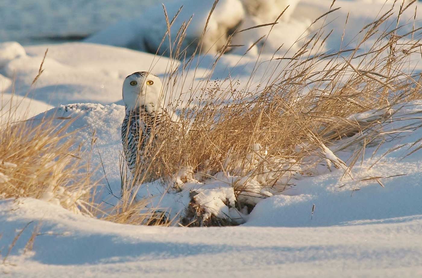
[[[92,163],[92,171],[104,165],[107,180],[111,187],[108,187],[104,179],[102,167],[94,172],[93,180],[101,180],[103,183],[103,199],[109,199],[113,194],[120,192],[120,168],[119,158],[122,151],[121,125],[124,119],[124,106],[122,105],[101,105],[101,104],[70,104],[60,105],[45,113],[33,117],[31,120],[37,124],[42,119],[54,119],[53,126],[62,127],[70,120],[74,120],[67,132],[75,132],[73,138],[76,141],[90,142],[92,135],[97,138],[92,156],[89,159]],[[89,146],[87,146],[89,147]],[[116,202],[117,200],[109,200]]]

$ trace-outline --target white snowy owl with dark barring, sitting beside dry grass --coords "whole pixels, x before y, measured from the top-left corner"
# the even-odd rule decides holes
[[[163,107],[161,86],[158,76],[145,71],[132,73],[123,82],[126,116],[122,123],[122,143],[133,176],[137,165],[151,157],[160,124],[171,122]]]

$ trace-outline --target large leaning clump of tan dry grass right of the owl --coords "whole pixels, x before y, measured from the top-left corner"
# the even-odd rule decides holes
[[[392,106],[422,97],[421,75],[410,66],[421,55],[419,40],[414,38],[418,29],[407,32],[412,23],[400,25],[409,7],[402,3],[398,13],[392,7],[363,27],[359,40],[342,42],[335,53],[323,47],[331,32],[317,28],[298,40],[303,47],[295,53],[274,54],[270,61],[258,57],[243,84],[230,73],[225,80],[211,80],[221,54],[200,82],[194,85],[187,80],[188,71],[197,71],[197,59],[188,58],[180,47],[186,30],[182,26],[178,40],[168,49],[182,65],[170,65],[163,89],[166,98],[176,99],[168,108],[180,112],[180,130],[175,134],[170,123],[160,127],[164,134],[160,148],[138,172],[139,180],[161,180],[167,192],[188,190],[191,202],[181,223],[208,226],[242,223],[236,218],[241,219],[262,198],[294,185],[295,177],[342,169],[353,178],[351,168],[365,147],[389,139],[381,127],[392,119]],[[313,25],[324,26],[332,12],[335,9]],[[167,15],[166,19],[171,26],[173,21]],[[230,39],[221,53],[229,48]],[[265,46],[265,38],[260,43]],[[185,84],[192,84],[189,92],[180,94]],[[370,110],[367,118],[353,116]],[[330,149],[344,138],[351,140]],[[354,152],[343,162],[335,152],[349,146],[355,146]],[[233,188],[235,201],[207,198],[208,188],[191,186],[206,187],[211,181],[220,182],[217,188],[222,184]],[[138,184],[127,183],[125,192],[136,195]],[[215,199],[229,208],[228,214],[222,216],[219,208],[209,205]]]

